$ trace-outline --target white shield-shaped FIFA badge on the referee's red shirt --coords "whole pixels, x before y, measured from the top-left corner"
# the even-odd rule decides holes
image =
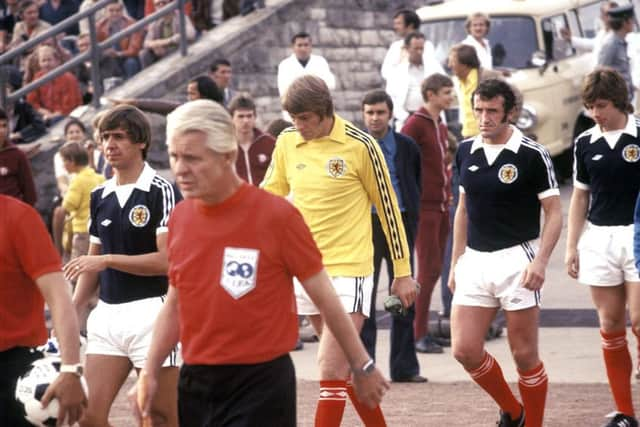
[[[256,287],[260,251],[248,248],[224,248],[220,285],[234,299]]]

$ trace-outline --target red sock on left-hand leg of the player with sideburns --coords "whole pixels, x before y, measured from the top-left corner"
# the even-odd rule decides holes
[[[509,413],[512,419],[520,417],[520,403],[511,392],[502,374],[502,369],[493,356],[485,352],[480,366],[467,372],[484,391],[489,393],[503,412]]]

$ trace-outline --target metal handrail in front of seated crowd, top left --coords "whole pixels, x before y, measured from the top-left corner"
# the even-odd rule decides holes
[[[67,71],[77,67],[78,65],[80,65],[81,63],[89,59],[91,60],[91,82],[93,84],[92,104],[96,108],[99,107],[100,97],[102,96],[102,93],[103,93],[102,82],[100,81],[100,73],[99,73],[100,56],[101,56],[100,54],[102,53],[102,51],[113,46],[113,44],[119,42],[123,38],[128,37],[129,35],[135,32],[141,31],[144,27],[146,27],[151,22],[156,21],[165,15],[173,13],[173,11],[176,9],[180,13],[180,19],[179,19],[180,54],[182,56],[187,55],[186,17],[184,14],[184,4],[186,0],[172,1],[166,6],[162,7],[161,9],[158,9],[151,15],[144,17],[143,19],[137,21],[135,24],[117,32],[116,34],[112,35],[108,39],[98,43],[97,33],[96,33],[95,12],[97,12],[99,9],[101,9],[102,7],[112,2],[113,0],[100,0],[98,3],[91,6],[89,9],[83,12],[77,13],[73,16],[70,16],[69,18],[56,24],[52,28],[49,28],[47,31],[43,32],[42,34],[39,34],[33,39],[26,41],[19,47],[15,49],[11,49],[11,51],[3,55],[0,55],[0,104],[2,104],[3,107],[5,107],[7,105],[7,102],[17,101],[18,99],[25,96],[27,93],[50,82],[56,77],[66,73]],[[37,46],[39,43],[41,43],[42,41],[48,38],[54,37],[56,34],[66,29],[69,25],[73,25],[85,18],[89,19],[89,38],[91,40],[91,48],[89,49],[89,51],[74,56],[72,59],[56,67],[54,70],[51,70],[44,76],[41,76],[40,78],[34,80],[33,82],[20,88],[19,90],[12,92],[11,94],[7,94],[6,88],[7,88],[8,77],[7,77],[7,71],[5,69],[2,69],[3,64],[9,63],[14,58],[20,56],[23,52],[29,50],[32,47]]]

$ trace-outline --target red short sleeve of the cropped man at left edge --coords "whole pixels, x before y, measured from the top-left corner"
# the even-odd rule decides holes
[[[35,281],[62,269],[60,256],[53,246],[40,215],[33,208],[22,209],[14,229],[13,244],[22,270]]]

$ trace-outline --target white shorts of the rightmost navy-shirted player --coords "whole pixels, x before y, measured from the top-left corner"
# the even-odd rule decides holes
[[[633,256],[633,224],[587,223],[578,242],[578,281],[589,286],[640,282]]]

